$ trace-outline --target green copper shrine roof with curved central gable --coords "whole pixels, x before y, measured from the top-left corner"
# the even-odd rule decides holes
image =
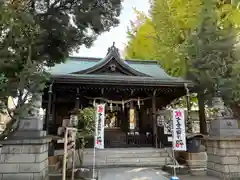
[[[111,69],[114,65],[117,69]],[[182,78],[169,76],[157,63],[157,61],[142,60],[123,60],[120,58],[117,48],[109,48],[104,58],[87,58],[87,57],[69,57],[64,63],[57,64],[49,69],[53,78],[76,78],[84,79],[123,79],[158,83],[189,83]]]

